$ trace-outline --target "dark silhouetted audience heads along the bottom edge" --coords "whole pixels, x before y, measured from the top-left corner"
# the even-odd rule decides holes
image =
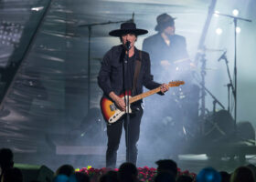
[[[147,182],[255,182],[256,167],[252,164],[247,167],[238,167],[230,175],[226,171],[218,172],[212,167],[203,168],[196,178],[180,172],[176,162],[171,159],[161,159],[157,165],[155,177]],[[9,148],[0,149],[1,182],[23,182],[22,171],[14,167],[14,154]],[[101,177],[91,178],[89,173],[75,172],[69,164],[60,166],[55,173],[53,182],[140,182],[138,169],[133,163],[123,163],[118,171],[108,169],[101,172]],[[97,169],[96,169],[97,171]],[[179,174],[179,175],[178,175]],[[153,180],[154,179],[154,180]],[[27,181],[25,181],[27,182]],[[29,182],[40,182],[33,180]]]

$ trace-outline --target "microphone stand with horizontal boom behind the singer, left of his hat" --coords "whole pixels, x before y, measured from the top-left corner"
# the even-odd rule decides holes
[[[125,20],[125,21],[117,21],[117,22],[112,22],[112,21],[108,21],[108,22],[104,22],[104,23],[96,23],[96,24],[86,24],[86,25],[79,25],[79,27],[88,27],[88,64],[87,64],[87,72],[88,72],[88,98],[87,98],[87,102],[88,102],[88,107],[87,107],[87,112],[89,113],[90,110],[90,106],[91,106],[91,27],[95,26],[95,25],[110,25],[110,24],[120,24],[120,23],[124,23],[124,22],[133,22],[134,21],[134,13],[132,15],[132,19],[129,20]]]

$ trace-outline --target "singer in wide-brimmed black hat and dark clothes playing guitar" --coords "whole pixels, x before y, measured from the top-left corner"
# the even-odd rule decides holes
[[[153,76],[150,73],[150,59],[148,54],[138,50],[134,46],[137,36],[146,33],[146,30],[136,28],[134,23],[123,23],[120,29],[113,30],[109,33],[109,35],[119,37],[122,45],[113,46],[103,57],[98,76],[98,84],[103,91],[103,96],[112,99],[115,105],[123,111],[125,110],[125,103],[120,95],[125,91],[130,90],[132,91],[132,96],[136,96],[143,93],[143,86],[148,89],[161,86],[160,95],[163,95],[168,90],[166,84],[161,85],[153,81]],[[135,70],[139,70],[137,71],[137,75],[135,74]],[[128,126],[129,138],[126,138],[126,161],[132,162],[134,165],[136,165],[137,161],[136,144],[139,140],[140,123],[143,116],[141,105],[141,100],[132,105],[133,114],[130,116]],[[125,132],[127,131],[126,117],[124,116],[123,118],[107,126],[107,167],[115,167],[116,165],[117,150],[123,125]],[[127,141],[129,141],[129,144],[127,144]],[[127,155],[128,151],[129,155]]]

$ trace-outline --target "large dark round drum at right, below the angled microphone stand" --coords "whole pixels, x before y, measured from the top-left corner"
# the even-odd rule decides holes
[[[227,110],[219,110],[206,119],[204,136],[212,142],[227,142],[235,136],[235,121]]]

